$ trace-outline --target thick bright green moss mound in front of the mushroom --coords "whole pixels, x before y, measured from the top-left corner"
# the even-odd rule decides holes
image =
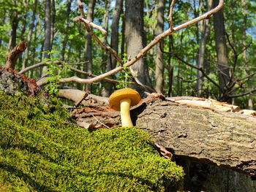
[[[184,172],[138,128],[64,124],[59,100],[0,92],[0,191],[168,191]]]

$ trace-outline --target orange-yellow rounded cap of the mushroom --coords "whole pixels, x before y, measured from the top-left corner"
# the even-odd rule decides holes
[[[112,93],[109,97],[109,104],[113,110],[120,111],[121,99],[131,99],[131,106],[140,102],[140,94],[132,88],[123,88]]]

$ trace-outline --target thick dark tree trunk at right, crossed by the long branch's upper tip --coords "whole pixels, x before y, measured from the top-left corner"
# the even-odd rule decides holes
[[[219,4],[219,0],[214,0],[214,7]],[[219,86],[222,88],[220,98],[222,101],[227,100],[223,96],[225,93],[227,83],[230,80],[230,74],[228,69],[228,58],[227,58],[227,43],[225,38],[225,25],[224,15],[222,9],[214,14],[214,33],[215,33],[215,48],[217,51],[217,67],[219,69]]]

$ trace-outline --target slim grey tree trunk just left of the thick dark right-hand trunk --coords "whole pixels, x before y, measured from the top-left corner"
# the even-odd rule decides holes
[[[208,10],[209,11],[212,7],[213,0],[208,0]],[[206,40],[209,34],[209,20],[203,20],[202,21],[202,30],[201,30],[201,39],[200,39],[200,47],[199,47],[199,53],[198,53],[198,58],[197,58],[197,67],[205,69],[205,53],[206,53]],[[197,96],[203,96],[202,95],[202,90],[203,90],[203,74],[202,72],[197,70]]]

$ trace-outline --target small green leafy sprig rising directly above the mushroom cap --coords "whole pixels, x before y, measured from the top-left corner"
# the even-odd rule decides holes
[[[123,63],[127,63],[127,54],[124,53],[124,58],[122,59]],[[122,72],[118,75],[118,85],[116,85],[116,88],[127,88],[128,85],[131,83],[129,80],[132,79],[132,72],[129,70],[129,67],[127,66],[121,66]]]

